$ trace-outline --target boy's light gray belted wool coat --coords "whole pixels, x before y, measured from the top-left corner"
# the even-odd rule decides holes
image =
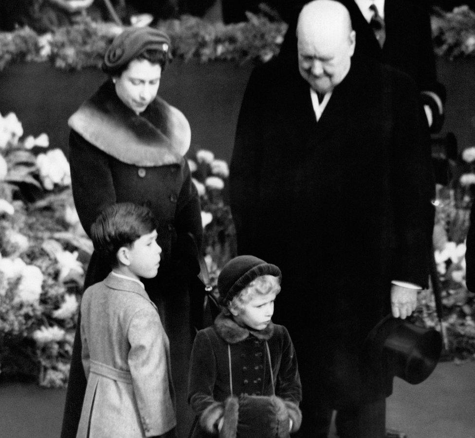
[[[175,427],[168,338],[145,289],[109,274],[84,292],[81,314],[88,384],[77,437],[151,437]]]

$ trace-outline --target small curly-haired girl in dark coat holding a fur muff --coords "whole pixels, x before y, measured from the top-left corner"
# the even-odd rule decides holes
[[[280,280],[277,266],[254,256],[235,257],[219,274],[224,309],[196,335],[190,361],[192,437],[288,437],[300,427],[292,340],[271,321]]]

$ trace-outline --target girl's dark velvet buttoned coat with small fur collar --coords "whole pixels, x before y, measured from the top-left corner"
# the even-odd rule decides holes
[[[188,401],[197,416],[204,411],[210,416],[216,406],[222,405],[232,395],[228,345],[231,348],[233,394],[237,397],[240,394],[273,394],[266,341],[271,356],[275,395],[284,400],[289,416],[298,428],[302,390],[289,332],[272,322],[264,330],[246,329],[224,313],[218,315],[213,327],[200,330],[193,344]],[[193,437],[208,436],[197,422]]]

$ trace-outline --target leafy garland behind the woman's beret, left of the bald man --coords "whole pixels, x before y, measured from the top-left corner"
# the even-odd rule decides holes
[[[172,40],[172,56],[185,60],[268,61],[279,51],[287,25],[248,13],[248,21],[237,24],[209,23],[182,16],[165,20],[159,28]],[[82,18],[71,26],[38,35],[28,27],[0,33],[0,70],[10,62],[50,60],[58,68],[79,70],[100,67],[112,39],[123,28]]]

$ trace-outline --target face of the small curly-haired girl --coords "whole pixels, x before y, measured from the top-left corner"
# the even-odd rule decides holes
[[[274,300],[276,292],[265,295],[255,294],[247,304],[240,305],[239,309],[230,309],[234,320],[240,326],[247,326],[255,330],[265,329],[271,322],[274,314]]]

